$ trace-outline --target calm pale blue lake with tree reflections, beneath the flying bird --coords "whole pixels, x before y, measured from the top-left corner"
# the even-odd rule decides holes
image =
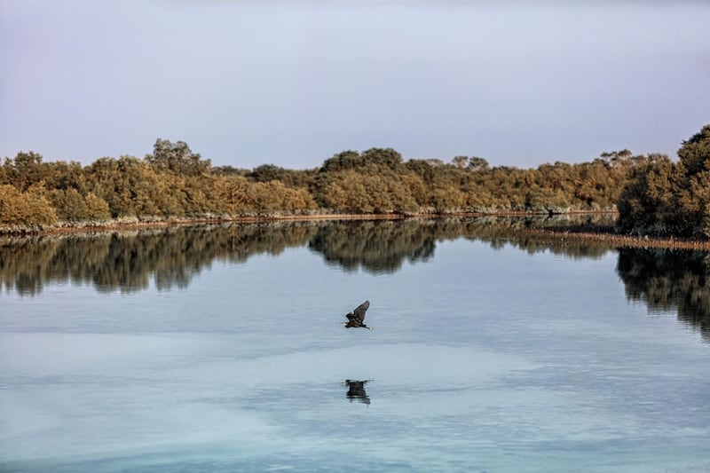
[[[0,240],[0,471],[710,471],[710,258],[510,225]]]

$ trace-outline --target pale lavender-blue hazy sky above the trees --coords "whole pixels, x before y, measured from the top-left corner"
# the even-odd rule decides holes
[[[0,158],[675,157],[710,123],[709,24],[706,2],[0,0]]]

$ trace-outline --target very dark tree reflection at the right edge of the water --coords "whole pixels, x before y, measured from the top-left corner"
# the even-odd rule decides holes
[[[649,311],[677,311],[710,341],[710,256],[702,251],[619,249],[617,272],[627,298]]]

